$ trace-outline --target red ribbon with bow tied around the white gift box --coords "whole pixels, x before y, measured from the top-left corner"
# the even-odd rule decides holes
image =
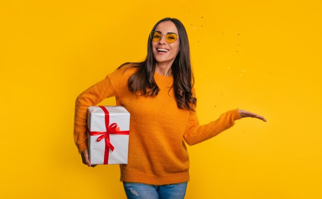
[[[104,106],[99,106],[99,107],[102,108],[102,110],[104,111],[104,114],[105,114],[105,127],[106,127],[106,131],[105,132],[90,131],[90,129],[88,129],[88,127],[87,127],[87,133],[90,134],[91,136],[93,136],[93,135],[101,135],[101,136],[99,136],[97,138],[96,141],[101,141],[102,139],[105,138],[104,165],[107,165],[108,164],[108,160],[109,160],[110,150],[111,151],[114,151],[114,147],[113,147],[113,145],[110,142],[110,134],[129,135],[130,132],[129,131],[120,131],[120,128],[117,125],[117,123],[112,123],[111,125],[109,125],[109,123],[110,123],[110,114],[109,114],[109,111]]]

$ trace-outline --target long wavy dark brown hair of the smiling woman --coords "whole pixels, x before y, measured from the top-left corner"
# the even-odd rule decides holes
[[[155,30],[158,24],[166,21],[174,23],[180,39],[180,51],[171,66],[173,76],[173,85],[171,88],[174,89],[174,97],[177,106],[179,108],[187,108],[188,110],[194,111],[191,105],[196,105],[196,98],[191,92],[191,88],[194,84],[194,77],[190,64],[190,49],[187,31],[179,20],[171,19],[169,17],[158,21],[152,28],[152,31]],[[153,56],[152,40],[150,37],[148,39],[148,55],[146,60],[137,63],[127,62],[120,67],[128,64],[131,64],[131,67],[137,67],[136,73],[128,80],[130,91],[138,95],[157,95],[160,88],[154,80],[156,60]]]

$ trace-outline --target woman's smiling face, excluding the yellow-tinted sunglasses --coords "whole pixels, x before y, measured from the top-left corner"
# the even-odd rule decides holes
[[[177,38],[175,42],[169,44],[165,40],[165,35],[168,32],[173,32],[179,37],[178,30],[176,29],[173,22],[166,21],[166,22],[159,23],[156,26],[154,31],[159,31],[163,35],[159,41],[157,42],[152,41],[152,50],[153,50],[154,59],[159,64],[162,63],[162,64],[172,65],[175,57],[179,53],[180,40],[179,38]]]

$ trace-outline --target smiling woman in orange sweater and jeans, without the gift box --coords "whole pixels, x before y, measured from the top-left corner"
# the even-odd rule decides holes
[[[88,160],[86,110],[104,98],[131,114],[128,165],[120,165],[128,198],[184,198],[189,180],[185,142],[196,144],[216,136],[243,117],[264,117],[232,110],[199,125],[190,66],[187,32],[177,19],[160,20],[152,29],[144,62],[125,63],[78,96],[75,143]]]

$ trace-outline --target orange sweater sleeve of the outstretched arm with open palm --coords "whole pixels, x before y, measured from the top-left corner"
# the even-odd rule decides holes
[[[190,146],[200,143],[229,129],[235,124],[235,120],[240,118],[238,109],[235,109],[221,114],[217,120],[200,125],[196,112],[190,111],[184,139]]]

